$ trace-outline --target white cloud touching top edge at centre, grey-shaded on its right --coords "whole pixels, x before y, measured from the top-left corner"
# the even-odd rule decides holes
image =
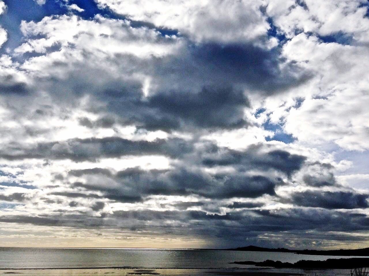
[[[157,27],[178,29],[197,42],[253,42],[265,37],[269,24],[259,7],[263,1],[98,0],[118,14]]]

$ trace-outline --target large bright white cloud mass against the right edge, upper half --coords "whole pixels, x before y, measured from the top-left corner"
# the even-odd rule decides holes
[[[316,72],[303,90],[300,107],[285,112],[284,129],[300,141],[334,142],[344,149],[369,149],[369,50],[362,46],[322,43],[314,36],[295,36],[283,47],[284,56]],[[299,92],[297,92],[299,93]]]

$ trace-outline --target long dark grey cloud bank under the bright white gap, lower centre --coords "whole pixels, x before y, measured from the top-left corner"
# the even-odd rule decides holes
[[[81,176],[88,176],[85,171]],[[104,176],[105,177],[105,176]],[[86,178],[88,179],[88,177]],[[104,197],[121,202],[141,201],[148,195],[200,195],[207,198],[256,198],[263,194],[275,195],[278,180],[270,180],[264,176],[216,175],[200,170],[190,171],[184,168],[175,170],[142,170],[127,169],[110,178],[118,187],[94,183],[73,183],[73,188],[85,188],[89,191],[100,191]],[[101,178],[101,183],[106,182]],[[60,192],[54,195],[63,195]],[[68,194],[68,195],[67,195]],[[64,193],[65,196],[77,197],[77,193]],[[82,195],[81,195],[82,196]],[[87,195],[85,195],[87,197]]]

